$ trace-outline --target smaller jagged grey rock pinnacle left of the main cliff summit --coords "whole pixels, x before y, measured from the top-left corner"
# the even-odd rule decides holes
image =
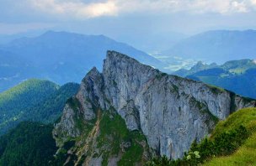
[[[82,80],[80,89],[76,96],[73,96],[72,102],[67,102],[61,122],[56,124],[53,135],[56,139],[61,138],[61,142],[67,137],[77,137],[81,134],[81,128],[76,125],[77,117],[83,117],[83,121],[93,120],[96,115],[96,108],[104,109],[103,95],[103,77],[96,68],[93,68]],[[74,109],[74,106],[78,106]],[[58,144],[58,142],[57,142]]]

